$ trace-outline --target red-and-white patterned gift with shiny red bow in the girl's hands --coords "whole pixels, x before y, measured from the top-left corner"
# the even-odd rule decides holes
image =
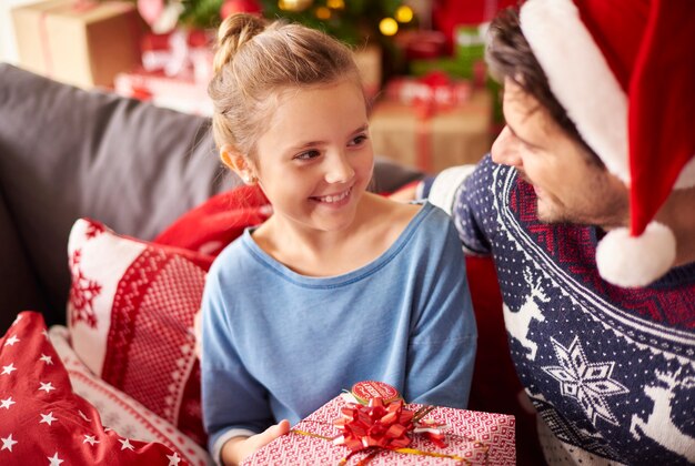
[[[365,398],[357,399],[352,393],[336,396],[243,464],[514,465],[516,462],[514,416],[406,404],[400,397]]]

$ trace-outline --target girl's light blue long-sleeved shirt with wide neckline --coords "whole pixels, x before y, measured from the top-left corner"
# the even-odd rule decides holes
[[[202,399],[210,450],[298,423],[355,382],[464,408],[476,327],[461,242],[424,204],[400,237],[346,274],[310,277],[263,252],[252,229],[215,260],[203,295]]]

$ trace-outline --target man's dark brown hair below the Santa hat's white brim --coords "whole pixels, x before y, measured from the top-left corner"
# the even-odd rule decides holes
[[[502,10],[492,21],[485,60],[491,74],[497,81],[504,82],[504,79],[508,78],[534,97],[542,107],[547,109],[560,128],[582,144],[591,153],[592,159],[603,165],[598,155],[582,139],[574,122],[551,91],[547,77],[521,30],[518,8],[510,7]]]

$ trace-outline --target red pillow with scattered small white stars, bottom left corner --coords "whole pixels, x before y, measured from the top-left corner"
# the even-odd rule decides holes
[[[0,340],[0,464],[184,465],[182,453],[121,436],[72,392],[40,313]]]

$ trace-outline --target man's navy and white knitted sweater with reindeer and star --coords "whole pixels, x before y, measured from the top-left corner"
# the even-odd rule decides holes
[[[494,256],[548,462],[695,463],[695,263],[613,286],[596,270],[597,229],[541,223],[514,169],[487,155],[465,181],[455,173],[430,200],[446,200],[466,252]]]

